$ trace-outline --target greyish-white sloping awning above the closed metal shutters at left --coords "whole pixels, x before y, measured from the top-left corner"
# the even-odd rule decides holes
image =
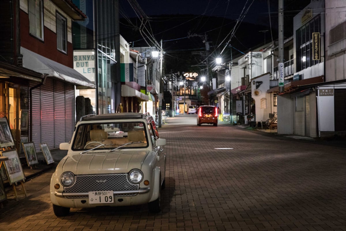
[[[24,47],[20,47],[20,52],[23,55],[23,67],[25,68],[42,74],[48,74],[48,77],[52,76],[77,86],[84,86],[92,89],[96,88],[93,82],[73,68],[69,68],[61,63],[29,51]]]

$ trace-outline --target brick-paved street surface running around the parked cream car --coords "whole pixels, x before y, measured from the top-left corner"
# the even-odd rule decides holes
[[[0,230],[346,230],[346,149],[219,124],[167,118],[164,208],[71,209],[57,218],[53,170],[0,209]],[[216,150],[215,148],[233,148]],[[20,186],[17,187],[19,191]]]

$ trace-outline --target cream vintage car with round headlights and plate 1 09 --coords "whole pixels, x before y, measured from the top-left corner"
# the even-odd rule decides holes
[[[70,208],[128,206],[148,203],[161,211],[165,187],[165,139],[158,137],[150,115],[89,115],[76,124],[68,150],[51,179],[56,216]]]

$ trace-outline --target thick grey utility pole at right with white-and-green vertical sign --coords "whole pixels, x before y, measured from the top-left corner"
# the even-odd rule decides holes
[[[279,0],[279,92],[284,91],[283,0]]]

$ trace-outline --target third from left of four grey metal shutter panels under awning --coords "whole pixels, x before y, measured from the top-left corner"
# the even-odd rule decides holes
[[[65,83],[56,80],[54,81],[54,148],[66,142],[65,111]]]

